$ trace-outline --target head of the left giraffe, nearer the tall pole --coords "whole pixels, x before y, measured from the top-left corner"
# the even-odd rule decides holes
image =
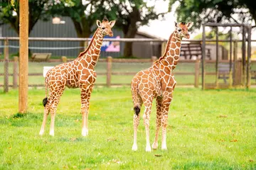
[[[109,35],[110,37],[113,36],[111,28],[114,26],[115,21],[109,22],[107,18],[103,18],[102,23],[99,20],[97,20],[96,23],[103,35]]]

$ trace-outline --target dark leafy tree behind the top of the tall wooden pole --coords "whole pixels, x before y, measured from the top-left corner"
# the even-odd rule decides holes
[[[29,0],[28,34],[33,30],[39,19],[48,18],[48,0]],[[8,23],[19,35],[19,3],[14,0],[1,0],[0,2],[0,25]]]

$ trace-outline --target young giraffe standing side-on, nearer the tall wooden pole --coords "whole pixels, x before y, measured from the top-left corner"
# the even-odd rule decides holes
[[[54,136],[55,113],[60,96],[65,86],[68,88],[80,88],[81,113],[82,113],[82,136],[88,135],[88,110],[93,84],[96,80],[95,65],[100,57],[100,47],[105,35],[113,36],[112,27],[115,21],[104,18],[102,22],[97,20],[97,30],[92,36],[90,45],[73,62],[59,64],[50,69],[46,74],[46,98],[43,99],[44,114],[43,123],[39,135],[43,135],[46,127],[47,116],[50,113],[50,135]],[[48,96],[47,96],[48,94]]]

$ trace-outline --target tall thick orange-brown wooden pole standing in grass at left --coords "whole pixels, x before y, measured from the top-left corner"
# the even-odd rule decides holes
[[[18,112],[26,113],[28,106],[28,0],[19,1],[19,86]]]

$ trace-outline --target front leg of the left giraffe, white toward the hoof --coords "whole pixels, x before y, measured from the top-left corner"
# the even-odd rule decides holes
[[[92,86],[82,86],[81,88],[82,136],[88,135],[88,114],[89,114],[91,93],[92,93]]]

